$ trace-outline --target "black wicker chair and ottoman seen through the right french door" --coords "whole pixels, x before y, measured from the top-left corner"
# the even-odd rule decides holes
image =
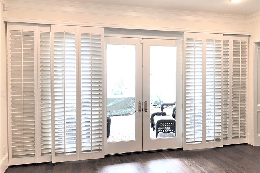
[[[176,107],[175,103],[162,103],[161,104],[161,111],[162,112],[155,112],[151,115],[151,127],[153,131],[156,130],[155,137],[158,137],[159,132],[163,133],[175,133],[176,131]],[[165,108],[172,108],[173,112],[172,115],[166,115],[163,110]]]

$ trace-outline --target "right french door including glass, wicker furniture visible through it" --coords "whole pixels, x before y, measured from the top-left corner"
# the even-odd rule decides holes
[[[143,39],[143,151],[183,146],[182,50],[182,40]]]

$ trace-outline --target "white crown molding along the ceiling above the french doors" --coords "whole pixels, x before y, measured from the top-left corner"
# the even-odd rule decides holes
[[[70,12],[81,14],[99,14],[106,16],[124,16],[138,18],[186,20],[215,23],[246,24],[246,16],[226,15],[176,10],[161,10],[140,7],[125,7],[115,5],[99,5],[63,1],[7,0],[8,8],[42,10],[54,12]]]

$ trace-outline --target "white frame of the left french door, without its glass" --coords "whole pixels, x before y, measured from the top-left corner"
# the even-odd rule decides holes
[[[135,109],[138,102],[142,102],[142,44],[138,38],[105,37],[105,89],[107,89],[107,44],[135,45]],[[107,92],[105,91],[105,116],[107,112]],[[106,120],[105,120],[106,121]],[[106,124],[106,123],[105,123]],[[135,112],[135,140],[107,142],[107,128],[105,127],[105,155],[142,151],[142,112]]]

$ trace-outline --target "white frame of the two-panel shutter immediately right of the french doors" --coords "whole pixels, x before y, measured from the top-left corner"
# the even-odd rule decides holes
[[[202,123],[202,141],[201,141],[201,143],[196,143],[195,141],[193,142],[193,143],[190,143],[190,144],[188,144],[187,143],[187,131],[186,131],[186,123],[189,123],[189,121],[187,120],[187,103],[189,103],[189,102],[187,102],[187,92],[190,92],[189,90],[187,90],[187,75],[192,75],[192,71],[190,72],[190,74],[189,73],[187,73],[187,53],[189,53],[188,52],[188,44],[187,44],[187,40],[194,40],[194,46],[193,46],[193,48],[194,48],[194,54],[191,54],[191,56],[194,56],[194,58],[196,57],[196,52],[195,52],[195,50],[196,50],[196,39],[198,40],[198,39],[200,39],[201,40],[201,42],[202,42],[202,46],[201,46],[201,50],[202,50],[202,52],[201,52],[201,63],[202,63],[202,67],[201,67],[201,71],[202,71],[202,76],[201,76],[201,78],[202,78],[202,90],[201,90],[201,96],[202,96],[202,113],[201,113],[201,118],[202,118],[202,120],[201,120],[201,123]],[[211,44],[211,47],[210,46],[208,46],[208,44],[210,44],[210,43],[208,43],[208,40],[211,40],[211,42],[212,42],[212,40],[213,40],[213,44]],[[216,44],[218,45],[217,47],[216,47]],[[212,45],[213,45],[213,47],[212,47]],[[223,140],[222,140],[222,93],[223,93],[223,89],[222,89],[222,87],[223,87],[223,82],[222,82],[222,79],[223,79],[223,65],[222,65],[222,61],[223,61],[223,34],[207,34],[207,33],[184,33],[184,47],[185,47],[185,49],[184,49],[184,74],[185,74],[185,77],[184,77],[184,103],[186,103],[186,105],[184,106],[185,107],[185,109],[184,109],[184,116],[185,116],[185,121],[183,121],[183,123],[184,123],[184,128],[183,128],[183,131],[184,131],[184,142],[183,142],[183,149],[184,150],[192,150],[192,149],[202,149],[202,148],[213,148],[213,147],[220,147],[220,146],[223,146]],[[211,62],[211,60],[210,60],[210,58],[212,59],[212,55],[211,55],[211,57],[210,56],[208,56],[207,54],[207,52],[208,51],[211,51],[211,54],[212,54],[212,49],[213,49],[213,55],[214,55],[214,58],[213,58],[213,62],[214,62],[214,64],[213,64],[213,66],[214,66],[214,70],[212,71],[210,71],[210,72],[207,72],[207,62]],[[197,49],[198,50],[198,49]],[[216,66],[216,63],[215,63],[215,61],[216,61],[216,50],[218,51],[218,62],[217,62],[217,66],[218,66],[218,69],[219,69],[219,72],[218,72],[218,74],[216,74],[216,72],[215,72],[215,66]],[[194,59],[195,60],[195,59]],[[195,61],[194,61],[194,63],[195,64],[198,64],[198,63],[196,63]],[[212,66],[212,64],[209,64],[209,65],[211,65]],[[195,66],[194,66],[194,68],[195,68]],[[194,71],[195,71],[195,69],[194,69]],[[210,73],[213,73],[213,78],[212,78],[212,75],[210,74]],[[198,75],[195,75],[195,73],[193,73],[193,75],[194,75],[194,78],[195,78],[195,76],[198,76]],[[211,78],[209,79],[208,78],[208,80],[207,80],[207,76],[211,76]],[[217,78],[216,78],[216,76],[218,76]],[[210,108],[210,107],[212,107],[211,105],[208,105],[209,104],[209,102],[207,102],[207,99],[209,99],[209,98],[207,98],[207,95],[208,96],[210,96],[211,97],[211,95],[209,95],[209,94],[211,94],[211,92],[209,92],[209,85],[207,85],[207,83],[208,82],[210,82],[211,80],[213,80],[214,82],[214,89],[213,89],[213,91],[214,91],[214,94],[213,94],[213,97],[214,97],[214,101],[213,101],[213,104],[214,104],[214,110],[216,109],[216,106],[217,106],[217,108],[218,108],[218,115],[216,115],[216,112],[214,111],[213,113],[214,113],[214,118],[213,118],[213,120],[214,120],[214,125],[213,125],[213,134],[214,134],[214,139],[213,139],[213,142],[212,141],[210,141],[210,140],[208,140],[207,141],[207,139],[209,139],[207,136],[207,131],[209,131],[209,129],[207,129],[209,126],[207,125],[207,121],[208,121],[208,119],[207,119],[207,114],[209,114],[209,112],[207,112],[207,110],[209,110],[209,109],[206,109],[207,107],[208,108]],[[216,88],[216,83],[218,83],[218,86],[217,86],[217,88]],[[194,84],[195,84],[195,82],[194,82]],[[194,86],[194,92],[195,92],[195,87],[196,86]],[[211,89],[211,90],[212,90]],[[216,89],[217,89],[217,93],[218,93],[218,95],[216,95],[215,93],[216,93]],[[208,94],[207,94],[208,93]],[[220,95],[220,93],[221,93],[221,95]],[[194,95],[195,96],[195,95]],[[218,101],[218,105],[215,105],[215,102],[216,102],[216,97],[220,97],[220,98],[218,98],[218,99],[220,99],[221,101]],[[195,98],[195,97],[194,97]],[[195,106],[195,104],[196,104],[196,101],[194,100],[194,106]],[[208,105],[208,106],[207,106]],[[194,107],[193,109],[191,108],[191,110],[193,110],[192,112],[194,112],[194,115],[195,115],[195,112],[196,112],[196,108]],[[195,111],[194,111],[195,110]],[[217,119],[218,119],[218,121],[221,121],[221,122],[218,122],[217,124],[218,125],[216,125],[216,123],[215,123],[215,118],[216,117],[218,117]],[[194,120],[195,121],[195,120]],[[210,123],[211,124],[211,122],[208,122],[208,123]],[[194,123],[195,124],[195,123]],[[216,130],[215,128],[218,126],[218,129]],[[217,131],[217,132],[216,132]],[[211,132],[212,133],[212,132]],[[215,141],[215,134],[218,134],[218,141]],[[195,136],[195,131],[194,131],[194,136]]]

